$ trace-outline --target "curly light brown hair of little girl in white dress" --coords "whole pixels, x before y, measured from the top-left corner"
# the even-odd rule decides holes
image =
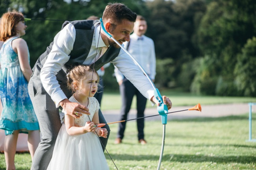
[[[100,77],[98,73],[91,66],[78,65],[72,68],[67,74],[67,87],[73,92],[75,92],[73,83],[77,81],[79,83],[79,86],[82,85],[83,80],[87,78],[90,72],[93,72],[93,74],[96,74],[98,76],[98,81],[99,81]]]

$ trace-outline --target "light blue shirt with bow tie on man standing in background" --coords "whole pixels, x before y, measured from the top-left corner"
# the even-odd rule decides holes
[[[125,49],[127,49],[127,46],[128,42],[124,42]],[[151,80],[155,80],[156,54],[153,40],[145,35],[139,37],[137,34],[132,34],[130,36],[128,52],[130,52],[141,67],[143,67]],[[117,67],[115,67],[115,76],[117,78],[117,82],[124,79],[123,74],[119,69],[117,69]]]

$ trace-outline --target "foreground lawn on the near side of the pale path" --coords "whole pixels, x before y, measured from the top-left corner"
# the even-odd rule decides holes
[[[252,138],[256,138],[256,114],[252,114]],[[179,119],[166,125],[165,148],[161,170],[254,170],[256,142],[248,142],[248,114],[222,118]],[[119,170],[156,170],[161,150],[163,125],[145,122],[147,145],[137,142],[136,123],[127,122],[123,143],[115,145],[117,124],[110,125],[107,150]],[[108,165],[115,170],[105,152]],[[17,170],[28,170],[30,155],[17,154]],[[5,169],[4,154],[0,154],[0,170]]]

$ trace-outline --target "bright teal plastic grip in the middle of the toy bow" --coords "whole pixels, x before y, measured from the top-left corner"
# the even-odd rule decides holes
[[[167,105],[163,104],[163,99],[162,99],[162,96],[159,92],[158,89],[155,89],[154,90],[154,96],[155,98],[158,100],[158,103],[160,104],[158,107],[157,107],[157,110],[158,110],[158,113],[160,114],[161,116],[161,119],[162,119],[162,124],[163,125],[166,125],[167,124],[167,112],[168,112],[168,107]]]

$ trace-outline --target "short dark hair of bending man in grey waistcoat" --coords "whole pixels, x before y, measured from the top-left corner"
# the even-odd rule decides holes
[[[137,14],[132,12],[126,5],[121,3],[109,3],[103,12],[102,19],[110,19],[113,24],[119,24],[123,19],[135,22],[136,17]]]

